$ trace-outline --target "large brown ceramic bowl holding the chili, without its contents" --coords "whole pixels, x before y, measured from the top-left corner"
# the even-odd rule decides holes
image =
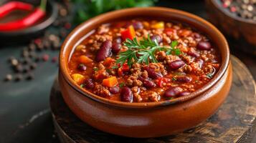
[[[187,97],[148,103],[116,102],[77,86],[67,66],[73,47],[100,24],[138,17],[180,21],[209,36],[222,57],[220,69],[212,81]],[[229,47],[224,36],[212,24],[184,11],[160,7],[113,11],[86,21],[67,37],[60,51],[59,82],[67,106],[83,122],[125,137],[166,136],[195,127],[212,116],[224,102],[232,82]]]

